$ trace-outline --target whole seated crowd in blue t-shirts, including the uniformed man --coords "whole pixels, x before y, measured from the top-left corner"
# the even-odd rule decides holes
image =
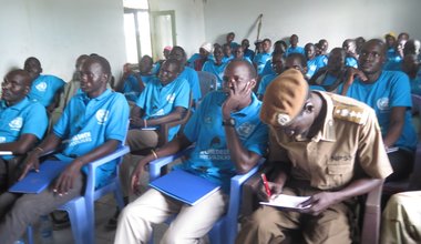
[[[325,39],[300,47],[291,34],[288,42],[257,40],[254,51],[229,32],[189,59],[182,47],[165,47],[163,60],[125,64],[115,85],[107,60],[95,53],[76,59],[68,83],[28,58],[1,84],[1,242],[19,241],[41,215],[81,195],[86,164],[125,142],[131,153],[119,176],[126,207],[107,223],[115,243],[147,243],[153,224],[175,213],[162,242],[199,243],[227,211],[230,179],[261,157],[268,185],[256,190],[258,199],[310,197],[297,211],[261,205],[242,218],[236,243],[281,243],[291,230],[306,243],[351,243],[356,196],[413,171],[411,95],[421,95],[421,43],[388,33],[384,41],[346,39],[329,53]],[[216,91],[202,94],[197,71],[215,75]],[[162,138],[164,124],[186,114]],[[151,161],[187,148],[174,167],[220,190],[191,206],[142,185]],[[68,162],[51,187],[8,192],[45,160]],[[97,186],[115,174],[115,162],[100,172]],[[411,190],[386,197],[381,243],[421,242],[421,189]]]

